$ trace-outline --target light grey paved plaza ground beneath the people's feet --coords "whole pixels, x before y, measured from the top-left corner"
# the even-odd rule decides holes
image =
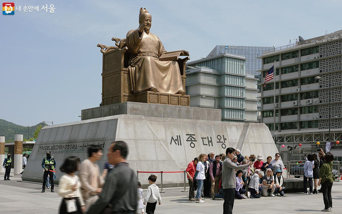
[[[51,193],[48,189],[41,193],[41,184],[17,182],[21,178],[11,178],[10,181],[0,180],[0,213],[21,214],[41,213],[57,214],[61,197],[58,197],[58,187]],[[300,178],[299,178],[300,179]],[[188,193],[181,188],[167,188],[160,193],[162,204],[157,205],[156,214],[216,214],[222,213],[223,200],[206,198],[203,204],[189,202]],[[144,191],[145,193],[146,191]],[[332,188],[333,212],[342,211],[342,182],[334,182]],[[260,199],[235,200],[234,213],[320,213],[324,208],[322,194],[304,195],[289,193],[285,197],[262,197]]]

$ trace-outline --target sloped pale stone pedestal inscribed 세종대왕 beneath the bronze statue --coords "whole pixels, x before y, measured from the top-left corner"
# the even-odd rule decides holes
[[[78,156],[81,160],[87,159],[89,144],[103,147],[104,155],[97,162],[100,169],[103,169],[107,161],[107,149],[110,143],[116,140],[127,142],[129,146],[127,161],[134,171],[182,171],[182,173],[163,174],[163,184],[182,184],[183,171],[187,164],[201,153],[208,154],[210,151],[214,151],[215,154],[225,153],[228,147],[240,149],[242,155],[262,154],[267,157],[277,153],[272,135],[268,127],[262,123],[222,122],[219,121],[221,110],[218,109],[167,105],[168,108],[174,109],[160,110],[158,108],[162,108],[163,105],[148,103],[143,105],[126,103],[126,107],[123,108],[124,104],[118,106],[122,107],[119,108],[120,111],[126,111],[126,114],[99,117],[96,115],[104,115],[108,109],[95,108],[99,111],[95,114],[93,109],[92,116],[88,115],[89,119],[43,127],[32,149],[22,179],[42,181],[41,162],[46,151],[49,150],[57,162],[56,182],[58,182],[58,178],[62,176],[59,167],[64,159],[71,155]],[[110,106],[108,105],[109,112],[111,112]],[[153,108],[155,111],[147,111]],[[82,119],[84,119],[83,111]],[[150,112],[155,112],[154,116],[146,115]],[[178,118],[170,118],[170,115]],[[190,119],[191,117],[194,119]],[[143,185],[147,184],[149,175],[149,173],[140,173],[139,181]],[[156,175],[157,185],[160,185],[160,174]]]

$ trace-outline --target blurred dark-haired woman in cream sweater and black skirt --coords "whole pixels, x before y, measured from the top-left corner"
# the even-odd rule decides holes
[[[80,169],[80,159],[70,156],[65,159],[60,170],[65,174],[60,178],[58,196],[62,196],[60,214],[81,214],[86,211],[81,194],[81,182],[76,171]]]

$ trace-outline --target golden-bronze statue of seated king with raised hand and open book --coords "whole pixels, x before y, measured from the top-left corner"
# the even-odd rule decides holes
[[[128,69],[126,78],[129,78],[132,95],[151,91],[184,96],[185,62],[189,57],[181,59],[179,56],[189,56],[189,53],[184,50],[167,52],[158,36],[150,32],[151,25],[152,15],[141,8],[139,27],[130,30],[126,39],[112,39],[117,47],[97,46],[104,54],[113,49],[122,50],[123,67]],[[105,68],[103,76],[104,72]]]

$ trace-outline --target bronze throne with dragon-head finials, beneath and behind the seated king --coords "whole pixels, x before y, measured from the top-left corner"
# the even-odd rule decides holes
[[[110,105],[120,102],[143,102],[169,105],[190,106],[190,96],[153,91],[134,93],[131,91],[128,62],[130,54],[127,51],[126,39],[112,38],[116,46],[97,44],[103,53],[102,63],[102,103]],[[187,53],[185,51],[185,53]],[[182,54],[181,54],[182,55]],[[185,54],[186,55],[186,54]],[[188,55],[188,53],[187,53]],[[185,90],[185,63],[190,58],[178,58],[183,88]]]

